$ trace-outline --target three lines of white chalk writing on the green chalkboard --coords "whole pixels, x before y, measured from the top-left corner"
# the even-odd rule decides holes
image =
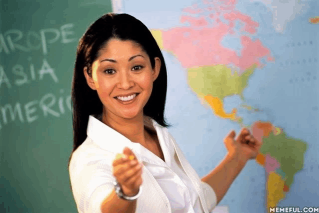
[[[56,48],[56,45],[52,44],[66,44],[76,41],[73,28],[73,23],[66,23],[60,27],[47,27],[38,31],[28,30],[25,32],[19,29],[9,29],[0,32],[0,57],[10,57],[9,60],[1,60],[0,91],[8,88],[13,93],[5,95],[10,95],[10,97],[12,95],[13,99],[14,97],[19,99],[16,102],[12,98],[0,101],[0,129],[13,122],[32,123],[40,117],[61,117],[62,114],[71,111],[71,96],[67,93],[64,94],[64,89],[59,88],[57,90],[59,95],[56,95],[54,94],[56,88],[52,91],[54,87],[47,84],[50,87],[44,87],[44,91],[42,91],[42,87],[38,88],[42,96],[33,98],[28,90],[26,93],[20,93],[19,90],[23,85],[30,85],[32,81],[59,82],[52,63],[60,63],[60,61],[50,60],[52,55],[52,53],[50,55],[50,48]],[[43,58],[39,57],[36,51],[40,52]],[[23,53],[26,53],[27,56],[23,57]],[[12,64],[12,55],[17,55],[19,61]],[[35,58],[37,63],[32,61],[32,58]],[[23,59],[25,60],[23,61]],[[14,86],[19,88],[12,89]],[[49,92],[45,92],[46,88],[49,89]],[[17,92],[16,96],[14,96],[15,92]],[[22,93],[23,95],[21,95]]]

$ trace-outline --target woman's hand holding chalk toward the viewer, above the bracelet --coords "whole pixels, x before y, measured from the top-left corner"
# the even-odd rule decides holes
[[[135,154],[125,147],[123,153],[118,153],[112,163],[113,175],[126,196],[138,193],[142,184],[142,163],[139,163]]]

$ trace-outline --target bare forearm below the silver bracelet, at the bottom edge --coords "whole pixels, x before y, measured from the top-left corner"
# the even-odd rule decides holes
[[[138,199],[138,198],[137,198]],[[121,199],[113,189],[111,193],[105,198],[101,205],[102,213],[108,212],[129,212],[134,213],[136,210],[136,200],[129,201]]]

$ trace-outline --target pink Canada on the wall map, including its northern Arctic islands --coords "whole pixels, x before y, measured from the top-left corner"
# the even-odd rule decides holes
[[[241,32],[250,34],[256,32],[259,24],[251,17],[235,10],[236,0],[220,0],[219,2],[221,3],[216,4],[213,1],[203,0],[204,4],[211,5],[203,9],[198,8],[197,4],[186,7],[183,11],[190,14],[180,16],[180,22],[188,22],[190,26],[162,30],[163,49],[172,52],[185,68],[232,64],[239,68],[238,74],[252,64],[263,65],[260,62],[261,58],[272,59],[270,50],[259,39],[252,40],[249,34],[238,35],[242,46],[239,51],[221,44],[225,35],[234,33],[235,21],[244,24]],[[209,10],[210,14],[200,14],[202,10]],[[194,12],[198,12],[196,13],[198,16],[194,17]],[[227,21],[221,21],[221,16]],[[209,24],[205,17],[210,18],[214,23]]]

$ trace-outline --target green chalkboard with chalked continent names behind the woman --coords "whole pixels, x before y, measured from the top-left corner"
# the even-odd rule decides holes
[[[67,170],[78,39],[110,0],[0,0],[0,212],[77,212]]]

